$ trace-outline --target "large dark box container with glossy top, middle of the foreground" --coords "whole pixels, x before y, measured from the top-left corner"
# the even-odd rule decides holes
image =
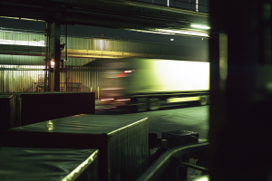
[[[146,168],[148,118],[75,115],[5,132],[5,147],[98,148],[99,179],[135,180]]]

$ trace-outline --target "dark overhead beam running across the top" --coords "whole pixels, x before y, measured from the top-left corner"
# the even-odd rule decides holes
[[[2,0],[0,16],[53,22],[61,13],[62,24],[85,24],[118,29],[184,29],[190,23],[208,24],[209,14],[125,0]]]

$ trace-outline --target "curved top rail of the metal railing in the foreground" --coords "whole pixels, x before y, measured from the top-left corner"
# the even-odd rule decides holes
[[[176,167],[179,167],[180,163],[177,164],[177,162],[179,162],[179,157],[185,157],[190,154],[204,152],[204,151],[207,151],[208,148],[209,148],[209,142],[171,148],[170,150],[162,154],[159,157],[159,159],[157,159],[151,165],[151,167],[149,167],[136,181],[156,180],[161,176],[163,171],[166,170],[166,168],[170,167],[171,165],[174,164]],[[186,167],[189,167],[189,166],[186,166]]]

